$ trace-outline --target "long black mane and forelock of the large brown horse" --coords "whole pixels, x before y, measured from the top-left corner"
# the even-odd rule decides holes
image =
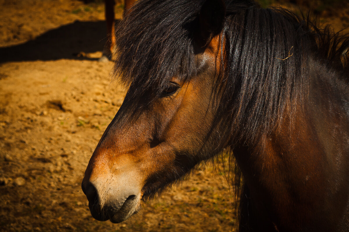
[[[141,0],[119,23],[114,72],[132,88],[130,97],[149,90],[159,95],[174,75],[195,75],[193,32],[202,2]],[[319,29],[309,16],[262,9],[254,1],[225,4],[221,39],[227,57],[216,83],[223,93],[217,121],[224,119],[235,140],[254,141],[279,127],[285,116],[292,119],[307,95],[312,59],[345,79],[348,35]]]

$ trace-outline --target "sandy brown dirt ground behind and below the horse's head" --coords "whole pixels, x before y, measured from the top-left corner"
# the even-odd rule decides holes
[[[225,169],[211,164],[124,223],[91,217],[84,170],[125,94],[98,62],[102,3],[0,0],[0,231],[233,231]],[[343,12],[327,18],[336,30]]]

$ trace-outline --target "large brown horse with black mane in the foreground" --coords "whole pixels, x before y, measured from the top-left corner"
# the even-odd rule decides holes
[[[253,0],[132,8],[128,91],[82,181],[92,216],[122,222],[225,153],[239,231],[349,231],[349,36]]]

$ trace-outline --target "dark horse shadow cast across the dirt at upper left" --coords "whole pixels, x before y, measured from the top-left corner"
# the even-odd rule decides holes
[[[57,59],[93,60],[97,58],[87,58],[81,54],[103,51],[105,42],[105,21],[75,21],[48,31],[34,40],[20,45],[0,48],[0,62]]]

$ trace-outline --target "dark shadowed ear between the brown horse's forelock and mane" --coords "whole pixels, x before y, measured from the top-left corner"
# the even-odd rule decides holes
[[[201,47],[207,45],[215,35],[221,33],[224,20],[224,1],[206,0],[199,14],[199,31],[195,35],[196,42],[199,42]]]

